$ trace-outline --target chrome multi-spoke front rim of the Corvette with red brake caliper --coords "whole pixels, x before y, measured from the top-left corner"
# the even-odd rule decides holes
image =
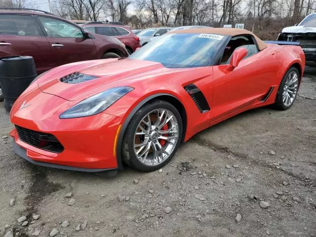
[[[179,125],[175,115],[167,109],[155,109],[137,126],[134,152],[141,163],[155,166],[170,156],[178,139]]]

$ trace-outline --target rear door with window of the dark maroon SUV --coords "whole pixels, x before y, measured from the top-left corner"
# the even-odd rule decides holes
[[[34,58],[38,74],[52,68],[52,54],[31,15],[0,14],[0,57],[22,55]]]

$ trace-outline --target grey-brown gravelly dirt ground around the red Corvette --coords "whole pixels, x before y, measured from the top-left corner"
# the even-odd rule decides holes
[[[0,236],[316,236],[316,69],[307,68],[291,109],[260,108],[206,129],[152,173],[35,166],[1,138],[12,129],[3,103],[0,121]]]

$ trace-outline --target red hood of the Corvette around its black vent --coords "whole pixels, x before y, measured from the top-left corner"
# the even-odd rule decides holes
[[[61,66],[37,79],[40,90],[69,101],[83,100],[108,88],[129,86],[138,80],[154,77],[169,71],[162,64],[134,59],[93,60]],[[94,79],[66,83],[61,79],[81,73]]]

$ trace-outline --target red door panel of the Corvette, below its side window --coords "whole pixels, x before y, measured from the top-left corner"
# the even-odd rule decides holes
[[[212,121],[259,102],[273,86],[277,74],[276,58],[263,50],[246,59],[231,72],[227,65],[214,66]]]

